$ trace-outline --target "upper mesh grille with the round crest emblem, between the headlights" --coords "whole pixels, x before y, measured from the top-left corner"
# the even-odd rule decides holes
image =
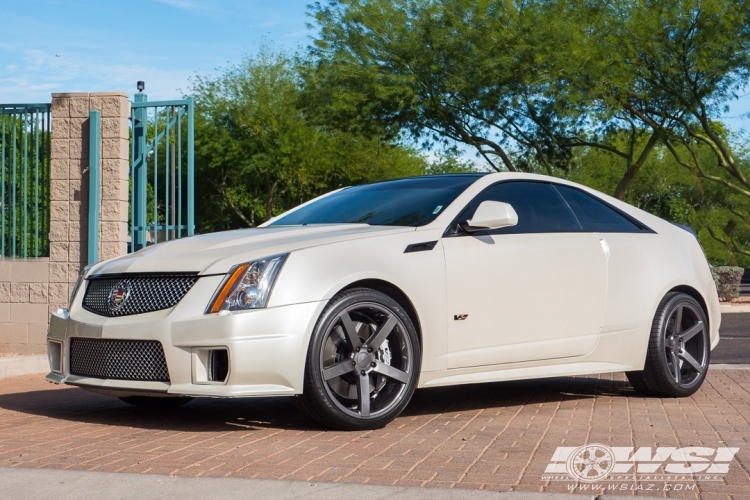
[[[198,281],[190,275],[123,275],[87,280],[83,308],[102,316],[128,316],[174,307]]]

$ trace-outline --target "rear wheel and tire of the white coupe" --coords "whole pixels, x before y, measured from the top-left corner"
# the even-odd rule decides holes
[[[706,378],[710,357],[705,311],[690,295],[673,292],[656,310],[643,370],[626,375],[646,396],[690,396]]]

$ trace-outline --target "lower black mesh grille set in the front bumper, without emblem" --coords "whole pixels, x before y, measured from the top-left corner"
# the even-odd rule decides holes
[[[161,343],[153,340],[70,339],[70,373],[82,377],[169,382]]]

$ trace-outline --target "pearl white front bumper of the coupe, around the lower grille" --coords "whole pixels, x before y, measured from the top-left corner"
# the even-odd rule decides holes
[[[326,301],[308,302],[224,315],[203,314],[220,276],[198,280],[172,309],[108,318],[77,303],[67,317],[53,314],[49,341],[62,342],[62,370],[47,380],[114,395],[277,396],[302,393],[305,359],[312,330]],[[167,382],[82,377],[70,373],[70,339],[155,340],[162,344]],[[200,382],[196,349],[226,348],[225,383]]]

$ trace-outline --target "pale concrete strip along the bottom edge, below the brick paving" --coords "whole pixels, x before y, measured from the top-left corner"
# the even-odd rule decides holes
[[[320,500],[594,500],[594,495],[496,492],[489,490],[412,488],[352,483],[317,483],[271,479],[173,477],[154,474],[83,472],[0,467],[3,498],[67,500],[81,498],[320,499]],[[601,498],[605,498],[603,495]],[[606,500],[616,498],[606,495]]]

